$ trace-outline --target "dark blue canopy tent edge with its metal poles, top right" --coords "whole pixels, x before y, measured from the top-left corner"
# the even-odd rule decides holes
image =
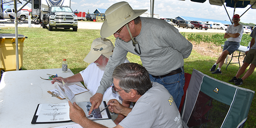
[[[185,1],[185,0],[183,0],[183,1]],[[207,0],[191,0],[191,1],[198,2],[198,3],[204,3]],[[151,14],[154,14],[154,0],[150,0],[150,3],[151,3],[151,7],[150,7]],[[256,0],[209,0],[209,3],[211,5],[217,5],[217,6],[222,6],[222,5],[224,5],[224,3],[226,3],[227,7],[234,8],[233,15],[236,12],[236,8],[245,8],[247,5],[250,5],[251,9],[256,9]],[[224,8],[227,12],[226,6],[224,5]],[[245,12],[247,12],[250,8],[248,8]],[[242,15],[244,15],[244,13]],[[230,18],[230,15],[228,14],[228,12],[227,12],[227,15],[230,19],[230,22],[232,23],[232,20]],[[240,15],[240,17],[242,15]],[[153,17],[153,15],[151,15],[151,17]]]

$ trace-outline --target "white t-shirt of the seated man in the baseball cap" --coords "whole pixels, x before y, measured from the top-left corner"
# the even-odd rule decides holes
[[[125,63],[128,63],[129,61],[126,59]],[[84,80],[84,85],[87,86],[87,89],[89,89],[89,93],[93,96],[100,84],[100,81],[102,79],[104,71],[100,70],[99,67],[95,63],[89,64],[89,66],[82,70],[80,72],[83,80]],[[122,98],[118,96],[118,94],[112,92],[112,86],[108,87],[108,89],[105,91],[103,95],[103,101],[108,101],[110,99],[117,99],[121,104],[122,104]]]

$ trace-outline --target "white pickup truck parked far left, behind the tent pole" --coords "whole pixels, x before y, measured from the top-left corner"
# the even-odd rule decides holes
[[[0,12],[0,16],[3,18],[10,18],[9,14],[14,17],[15,10],[14,9],[5,9],[3,12]],[[27,10],[20,10],[19,12],[17,12],[17,17],[21,21],[25,21],[26,18],[28,18],[29,16],[30,16],[29,11],[27,11]]]

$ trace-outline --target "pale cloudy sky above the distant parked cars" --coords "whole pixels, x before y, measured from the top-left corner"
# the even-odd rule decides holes
[[[71,9],[80,12],[93,13],[98,9],[108,9],[114,3],[126,1],[133,9],[148,9],[150,13],[151,0],[71,0]],[[24,2],[25,3],[25,2]],[[224,3],[225,4],[225,3]],[[19,5],[18,5],[19,6]],[[31,4],[28,4],[31,8]],[[250,5],[245,8],[236,8],[236,14],[242,15]],[[234,8],[226,7],[228,14],[232,17]],[[178,16],[198,17],[214,20],[229,20],[224,6],[210,5],[209,0],[204,3],[192,2],[190,0],[154,0],[154,14],[164,18],[175,18]],[[241,18],[243,23],[256,24],[256,9],[249,9]]]

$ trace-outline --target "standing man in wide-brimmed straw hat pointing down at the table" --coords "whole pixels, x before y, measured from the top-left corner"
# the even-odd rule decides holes
[[[90,98],[91,110],[99,107],[102,95],[112,84],[111,75],[125,60],[128,52],[139,55],[151,81],[163,84],[173,96],[177,108],[183,96],[183,58],[188,58],[192,44],[178,30],[164,20],[140,17],[147,10],[134,10],[127,2],[110,6],[100,35],[116,38],[115,49],[106,66],[96,94]]]

